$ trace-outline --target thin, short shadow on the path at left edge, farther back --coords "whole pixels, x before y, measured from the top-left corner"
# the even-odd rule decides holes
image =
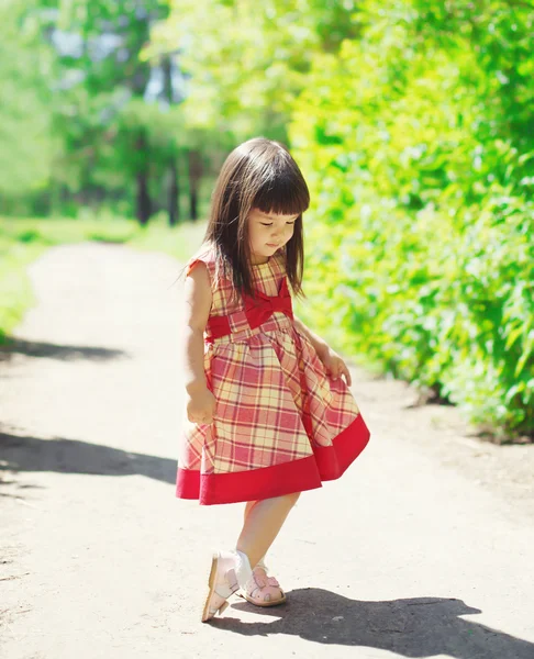
[[[0,345],[0,361],[7,361],[14,354],[64,360],[93,359],[98,361],[129,356],[124,350],[89,346],[64,346],[41,340],[24,340],[22,338],[8,336],[5,337],[5,343]]]

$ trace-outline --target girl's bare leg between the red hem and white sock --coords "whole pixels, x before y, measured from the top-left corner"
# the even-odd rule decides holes
[[[299,496],[294,492],[247,503],[237,550],[246,554],[253,568],[267,554]]]

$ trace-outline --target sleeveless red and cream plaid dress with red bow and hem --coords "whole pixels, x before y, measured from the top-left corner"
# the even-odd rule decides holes
[[[340,478],[369,440],[348,386],[331,378],[293,323],[285,248],[253,265],[257,298],[230,300],[233,282],[214,280],[204,244],[189,259],[208,267],[212,306],[204,330],[204,373],[216,399],[213,423],[182,410],[176,495],[200,504],[256,501],[320,488]]]

